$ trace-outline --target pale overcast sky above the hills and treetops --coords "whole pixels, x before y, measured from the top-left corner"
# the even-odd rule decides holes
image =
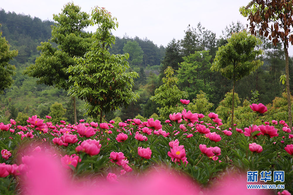
[[[6,12],[24,13],[42,20],[53,20],[52,14],[61,12],[67,0],[1,0],[0,7]],[[115,36],[147,37],[158,46],[167,46],[173,38],[184,37],[184,30],[190,24],[203,27],[216,33],[219,37],[226,25],[239,20],[248,24],[247,18],[239,13],[241,6],[249,0],[74,0],[82,11],[90,13],[94,6],[105,7],[117,18],[118,29]],[[94,27],[88,29],[96,31]]]

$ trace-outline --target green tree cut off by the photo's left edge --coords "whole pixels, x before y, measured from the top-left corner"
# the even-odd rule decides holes
[[[3,93],[5,88],[11,86],[13,83],[12,76],[15,74],[15,66],[9,64],[9,61],[17,56],[18,51],[10,51],[9,48],[8,41],[2,37],[2,31],[0,31],[0,93]]]

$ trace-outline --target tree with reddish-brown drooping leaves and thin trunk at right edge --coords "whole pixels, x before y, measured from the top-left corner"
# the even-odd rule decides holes
[[[289,42],[293,45],[293,0],[253,0],[246,7],[239,9],[241,14],[250,20],[249,32],[268,37],[276,46],[279,40],[283,42],[286,61],[286,91],[288,102],[288,122],[292,129],[292,113],[289,86]],[[259,27],[259,30],[256,28]],[[257,32],[258,31],[258,32]]]

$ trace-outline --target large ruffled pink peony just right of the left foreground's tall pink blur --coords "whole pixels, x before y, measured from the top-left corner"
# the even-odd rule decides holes
[[[83,151],[88,155],[94,156],[100,153],[101,146],[100,140],[87,139],[81,142],[80,146],[77,146],[75,150],[77,152]]]

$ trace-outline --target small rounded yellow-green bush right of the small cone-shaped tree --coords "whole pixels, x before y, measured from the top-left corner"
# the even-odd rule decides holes
[[[207,115],[212,107],[213,104],[209,102],[207,94],[201,90],[196,95],[196,99],[193,99],[193,103],[189,103],[187,106],[192,113],[202,113],[204,115]]]

